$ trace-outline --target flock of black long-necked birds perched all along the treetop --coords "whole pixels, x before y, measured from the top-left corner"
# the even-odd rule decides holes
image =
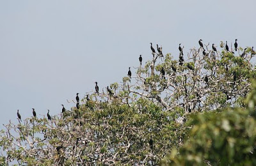
[[[203,49],[203,54],[204,54],[204,56],[205,56],[206,52],[205,52],[204,44],[203,44],[202,41],[203,41],[203,40],[200,39],[200,40],[198,41],[198,43],[199,43],[199,45],[200,45],[200,49],[201,49],[201,48]],[[181,47],[180,45],[181,45],[181,43],[179,43],[179,51],[180,51],[180,54],[179,54],[179,64],[180,64],[180,66],[182,66],[182,64],[184,63],[184,57],[183,57],[183,56],[184,56],[184,54],[183,54],[183,49],[184,49],[184,47]],[[235,50],[237,51],[237,47],[238,47],[237,39],[236,39],[236,41],[235,41],[235,43],[234,43],[234,47],[235,47]],[[152,43],[150,43],[150,49],[152,50],[152,53],[156,54],[156,50],[155,50],[154,47],[152,46]],[[229,51],[227,41],[226,41],[226,43],[225,43],[225,49],[226,49],[227,51]],[[247,49],[247,48],[244,49],[243,53],[241,54],[241,57],[244,57],[244,56],[245,56],[245,51],[246,51],[246,49]],[[216,49],[214,43],[212,43],[212,50],[214,50],[214,52],[217,52],[217,49]],[[163,57],[162,47],[159,47],[158,44],[157,44],[157,52],[159,52],[159,56]],[[253,47],[252,47],[252,52],[254,52]],[[233,53],[234,53],[234,52],[233,52]],[[141,56],[141,55],[140,55],[140,57],[139,57],[139,61],[140,61],[140,65],[141,65],[141,64],[142,64],[142,56]],[[173,70],[174,72],[176,72],[176,70],[177,70],[176,67],[173,66],[173,65],[172,65],[171,67],[172,67],[172,70]],[[188,68],[189,68],[189,70],[195,70],[194,66],[191,66],[191,64],[189,64],[189,63],[188,63]],[[160,72],[161,72],[162,78],[164,79],[164,78],[165,78],[165,77],[164,77],[164,75],[165,75],[164,68],[162,68]],[[131,75],[132,75],[131,67],[129,67],[129,71],[128,71],[127,75],[131,78]],[[206,83],[208,83],[209,79],[208,79],[207,75],[204,77],[204,80],[205,80]],[[234,80],[236,80],[236,73],[234,73]],[[108,86],[107,86],[107,91],[108,91],[108,93],[109,93],[109,96],[113,96],[113,92],[112,92],[112,90],[111,90]],[[98,82],[95,82],[95,93],[99,94]],[[80,101],[78,94],[79,94],[79,93],[76,94],[76,108],[77,108],[77,109],[79,109],[79,101]],[[86,95],[86,100],[88,100],[88,101],[90,100],[90,97],[89,97],[88,94]],[[66,109],[65,109],[64,105],[62,105],[62,107],[63,107],[63,108],[62,108],[62,113],[64,113],[64,112],[66,111]],[[32,109],[32,110],[33,110],[33,116],[36,117],[35,109]],[[19,110],[17,110],[17,116],[18,116],[18,119],[19,119],[20,121],[22,121],[22,120],[21,120],[21,116],[20,116],[20,114],[19,114]],[[48,110],[48,112],[47,112],[47,118],[51,121],[51,116],[50,116],[50,114],[49,114],[49,110]]]

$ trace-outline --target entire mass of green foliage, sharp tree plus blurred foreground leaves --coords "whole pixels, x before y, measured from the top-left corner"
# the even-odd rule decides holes
[[[205,45],[186,61],[183,52],[178,61],[152,55],[111,93],[92,93],[51,121],[4,125],[0,165],[253,165],[255,90],[246,96],[255,52]]]

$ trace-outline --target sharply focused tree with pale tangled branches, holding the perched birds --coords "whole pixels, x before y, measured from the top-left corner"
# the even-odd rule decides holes
[[[155,165],[189,138],[189,112],[245,107],[255,70],[253,52],[193,48],[178,63],[170,54],[152,60],[108,91],[92,93],[77,109],[47,118],[28,117],[4,125],[0,164]],[[242,48],[239,48],[243,50]],[[231,50],[232,51],[232,50]],[[139,62],[138,62],[139,63]],[[134,74],[132,74],[134,75]],[[74,102],[76,103],[76,102]]]

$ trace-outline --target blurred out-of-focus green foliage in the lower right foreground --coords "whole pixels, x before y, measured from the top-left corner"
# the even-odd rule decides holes
[[[189,139],[173,149],[163,165],[255,165],[256,84],[246,99],[247,108],[225,108],[196,114]]]

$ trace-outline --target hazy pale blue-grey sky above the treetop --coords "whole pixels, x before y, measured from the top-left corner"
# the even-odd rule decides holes
[[[256,48],[255,0],[0,1],[0,124],[61,112],[152,57],[238,39]],[[218,47],[220,48],[220,47]],[[131,68],[134,72],[134,68]],[[0,126],[2,128],[2,126]]]

